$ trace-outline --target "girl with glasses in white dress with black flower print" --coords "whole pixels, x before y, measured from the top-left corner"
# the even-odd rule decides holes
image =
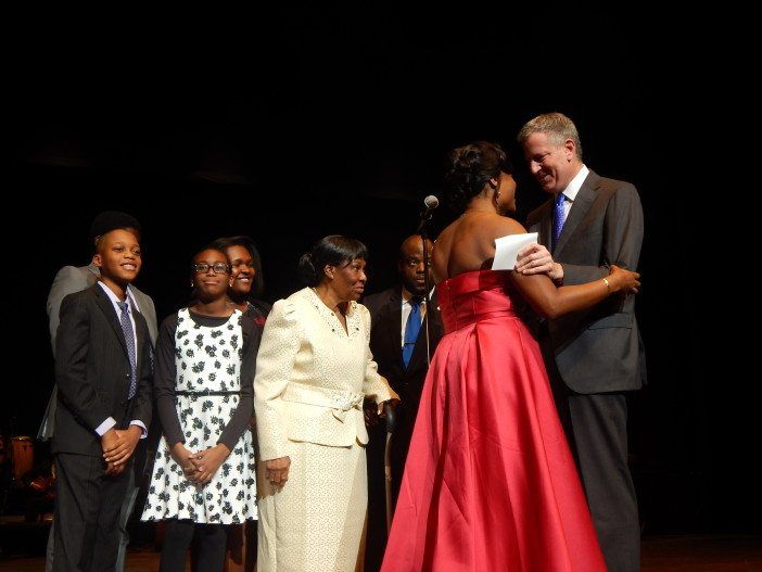
[[[182,571],[199,530],[199,570],[221,571],[227,524],[257,518],[246,431],[261,330],[232,308],[226,254],[193,257],[195,304],[162,323],[154,392],[163,436],[142,520],[166,520],[161,571]]]

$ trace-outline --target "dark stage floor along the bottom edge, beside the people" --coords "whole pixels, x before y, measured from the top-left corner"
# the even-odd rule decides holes
[[[43,569],[42,557],[0,560],[0,572],[42,572]],[[157,552],[130,550],[128,554],[126,572],[157,570]],[[644,538],[642,571],[760,572],[762,535],[674,535]]]

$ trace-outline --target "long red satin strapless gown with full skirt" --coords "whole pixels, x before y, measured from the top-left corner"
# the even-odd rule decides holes
[[[423,386],[382,572],[605,571],[536,341],[505,272],[439,285],[446,335]]]

